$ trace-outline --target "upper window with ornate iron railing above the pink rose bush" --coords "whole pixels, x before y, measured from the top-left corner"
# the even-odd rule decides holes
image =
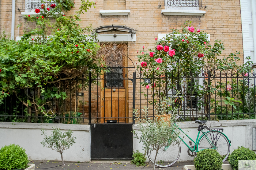
[[[199,10],[202,0],[165,0],[165,9]]]

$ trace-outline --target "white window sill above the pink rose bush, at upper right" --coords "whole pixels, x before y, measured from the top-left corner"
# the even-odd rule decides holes
[[[203,16],[206,11],[201,10],[172,10],[162,9],[163,15],[190,15],[190,16]]]

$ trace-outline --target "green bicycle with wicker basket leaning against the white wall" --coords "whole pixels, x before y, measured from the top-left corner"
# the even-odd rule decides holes
[[[176,120],[181,118],[180,116],[176,116]],[[183,118],[181,118],[184,120]],[[176,125],[176,120],[174,125]],[[185,134],[191,141],[189,141],[189,145],[180,137],[178,138],[188,147],[188,155],[191,157],[195,157],[196,153],[204,150],[204,149],[216,149],[221,156],[224,157],[222,162],[226,161],[229,156],[230,151],[230,143],[231,141],[227,138],[225,134],[223,134],[223,129],[210,129],[206,126],[207,120],[196,120],[196,123],[199,124],[198,134],[196,137],[196,141],[193,141],[186,133],[184,133],[179,127],[178,129]],[[207,132],[203,130],[207,129]],[[200,137],[200,131],[203,133]],[[168,144],[161,149],[159,149],[157,158],[156,158],[156,166],[158,167],[169,167],[172,166],[178,158],[180,157],[181,147],[180,142],[176,141],[172,145]],[[193,146],[194,145],[194,146]],[[155,150],[147,150],[147,155],[149,160],[153,163],[156,155]]]

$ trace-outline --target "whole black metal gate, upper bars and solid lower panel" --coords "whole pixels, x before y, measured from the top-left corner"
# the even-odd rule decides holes
[[[135,82],[134,67],[111,67],[95,78],[89,73],[92,160],[132,159]]]

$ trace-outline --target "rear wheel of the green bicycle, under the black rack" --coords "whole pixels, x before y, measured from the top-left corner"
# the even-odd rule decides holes
[[[208,141],[208,139],[214,146]],[[197,148],[198,150],[202,150],[212,149],[214,147],[216,147],[216,150],[218,151],[219,155],[221,155],[221,157],[223,158],[222,162],[226,161],[230,151],[229,140],[225,135],[223,135],[219,131],[207,132],[206,135],[204,135],[198,142]]]

